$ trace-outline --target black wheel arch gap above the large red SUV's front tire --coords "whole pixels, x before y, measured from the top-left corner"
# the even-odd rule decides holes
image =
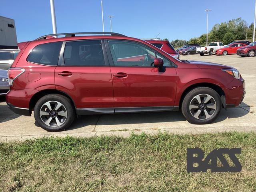
[[[181,97],[180,97],[179,108],[181,108],[182,102],[183,102],[183,100],[184,100],[186,94],[188,94],[188,92],[190,92],[191,90],[193,90],[194,88],[197,88],[197,87],[208,87],[208,88],[212,88],[213,90],[215,90],[215,91],[220,95],[220,98],[221,98],[223,107],[226,106],[225,92],[222,90],[222,88],[221,88],[220,86],[216,85],[216,84],[204,82],[204,83],[192,84],[192,85],[188,86],[188,87],[183,91],[183,93],[182,93],[182,95],[181,95]]]

